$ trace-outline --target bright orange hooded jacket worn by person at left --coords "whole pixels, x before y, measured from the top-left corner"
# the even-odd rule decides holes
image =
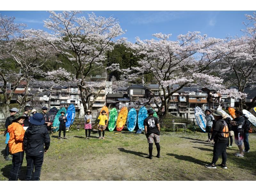
[[[17,122],[13,122],[8,126],[7,132],[10,134],[10,139],[8,141],[10,153],[15,154],[24,151],[23,138],[25,130],[23,129],[23,126]]]

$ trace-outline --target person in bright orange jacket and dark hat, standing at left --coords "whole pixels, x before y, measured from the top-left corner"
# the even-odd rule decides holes
[[[13,117],[12,124],[7,129],[10,134],[8,141],[9,151],[12,154],[12,169],[9,180],[18,180],[24,158],[23,137],[25,130],[22,124],[28,117],[23,113],[16,113]]]

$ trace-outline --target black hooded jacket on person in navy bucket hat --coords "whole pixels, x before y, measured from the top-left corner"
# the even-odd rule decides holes
[[[45,144],[45,148],[44,148]],[[24,136],[24,150],[27,155],[40,155],[50,146],[50,135],[45,125],[30,124]]]

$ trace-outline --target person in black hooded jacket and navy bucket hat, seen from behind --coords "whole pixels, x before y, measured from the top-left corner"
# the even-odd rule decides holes
[[[50,146],[50,135],[44,123],[43,115],[35,113],[30,118],[30,125],[24,135],[23,146],[27,160],[26,180],[40,180],[44,153]],[[34,167],[35,172],[32,177]]]

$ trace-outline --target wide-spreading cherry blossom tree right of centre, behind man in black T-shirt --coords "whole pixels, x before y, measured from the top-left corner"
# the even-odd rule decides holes
[[[209,66],[222,57],[216,47],[221,46],[223,40],[207,38],[199,32],[179,35],[177,41],[169,40],[171,34],[158,33],[153,36],[155,39],[144,41],[137,38],[136,43],[126,42],[125,39],[123,41],[139,58],[139,66],[121,70],[116,64],[108,69],[118,70],[123,73],[122,79],[129,81],[141,79],[145,72],[151,73],[159,85],[159,93],[155,94],[150,88],[148,90],[160,118],[164,118],[168,113],[172,95],[186,85],[200,84],[224,88],[219,77],[207,74]],[[174,84],[179,84],[179,88],[173,88]],[[160,90],[163,90],[163,95]],[[157,98],[160,98],[160,103]]]

